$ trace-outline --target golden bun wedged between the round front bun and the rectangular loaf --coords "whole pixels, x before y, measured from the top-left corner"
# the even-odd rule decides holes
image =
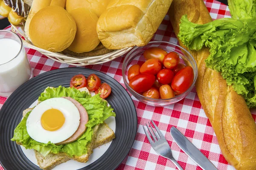
[[[92,51],[100,42],[96,31],[99,18],[87,8],[76,8],[69,13],[76,22],[77,31],[76,37],[68,49],[76,53]]]

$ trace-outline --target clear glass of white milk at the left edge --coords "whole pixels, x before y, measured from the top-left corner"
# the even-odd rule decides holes
[[[0,96],[8,97],[33,77],[21,38],[0,30]]]

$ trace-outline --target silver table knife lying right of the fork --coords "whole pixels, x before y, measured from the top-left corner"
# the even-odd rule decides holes
[[[189,139],[187,139],[176,127],[170,131],[172,138],[177,145],[203,170],[218,170]]]

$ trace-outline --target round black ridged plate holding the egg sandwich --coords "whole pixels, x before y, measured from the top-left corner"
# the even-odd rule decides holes
[[[47,86],[68,87],[74,75],[83,74],[88,77],[93,73],[112,88],[107,100],[116,113],[116,139],[98,160],[81,170],[111,170],[121,164],[134,143],[137,131],[137,113],[131,97],[115,79],[99,71],[86,68],[61,68],[40,74],[25,82],[13,92],[1,108],[0,163],[3,168],[6,170],[40,170],[26,158],[19,145],[10,141],[15,127],[22,118],[22,111],[29,108]]]

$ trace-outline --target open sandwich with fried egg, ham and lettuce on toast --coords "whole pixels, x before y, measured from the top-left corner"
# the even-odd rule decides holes
[[[87,88],[46,88],[34,108],[23,111],[11,139],[34,149],[43,170],[70,159],[87,162],[93,148],[115,138],[105,119],[115,116],[108,102]]]

